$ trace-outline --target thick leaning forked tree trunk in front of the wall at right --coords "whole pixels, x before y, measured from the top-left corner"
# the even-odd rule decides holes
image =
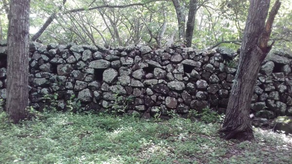
[[[261,62],[271,50],[268,46],[274,17],[281,2],[276,0],[265,23],[270,0],[250,0],[249,13],[243,33],[237,74],[230,94],[226,117],[220,132],[225,139],[252,140],[254,138],[250,104]]]

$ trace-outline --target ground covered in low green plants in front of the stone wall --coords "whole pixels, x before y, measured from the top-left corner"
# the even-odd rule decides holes
[[[292,164],[292,137],[219,138],[219,124],[188,119],[48,114],[19,125],[0,113],[0,164]]]

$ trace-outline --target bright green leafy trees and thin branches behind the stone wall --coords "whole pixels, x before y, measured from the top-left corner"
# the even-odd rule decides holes
[[[164,47],[184,43],[191,34],[191,47],[237,49],[248,8],[249,0],[31,0],[30,38],[43,44]],[[9,0],[1,0],[0,39],[7,38],[8,12]],[[291,19],[292,2],[282,0],[271,35],[275,49],[292,48]]]

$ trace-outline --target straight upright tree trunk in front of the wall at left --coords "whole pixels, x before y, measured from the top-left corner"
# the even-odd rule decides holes
[[[30,0],[10,1],[6,107],[14,123],[28,117],[29,13]]]

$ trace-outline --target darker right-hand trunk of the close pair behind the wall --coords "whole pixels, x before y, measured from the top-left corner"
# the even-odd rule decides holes
[[[197,0],[190,0],[190,7],[189,7],[188,19],[187,19],[186,31],[185,31],[186,47],[192,46],[192,39],[193,39],[193,34],[194,34],[197,7],[198,7],[198,1]]]

